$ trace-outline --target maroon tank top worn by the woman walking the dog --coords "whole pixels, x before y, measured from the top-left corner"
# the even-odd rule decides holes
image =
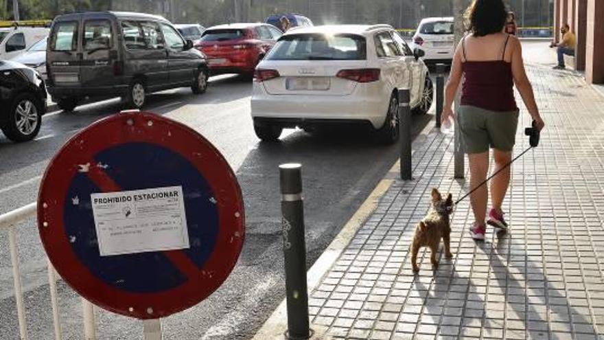
[[[461,41],[464,80],[461,104],[491,111],[516,111],[512,65],[504,60],[509,35],[505,39],[501,60],[471,61],[465,57],[465,38]]]

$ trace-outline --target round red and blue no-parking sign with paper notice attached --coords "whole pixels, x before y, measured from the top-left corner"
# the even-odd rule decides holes
[[[194,306],[224,282],[244,242],[244,205],[209,141],[151,113],[73,136],[40,185],[38,229],[56,271],[86,299],[138,319]]]

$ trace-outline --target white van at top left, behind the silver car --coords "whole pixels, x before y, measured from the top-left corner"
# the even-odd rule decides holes
[[[14,26],[0,28],[0,59],[9,60],[48,36],[47,27]]]

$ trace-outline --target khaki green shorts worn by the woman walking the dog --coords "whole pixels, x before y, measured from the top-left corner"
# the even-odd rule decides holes
[[[490,111],[476,106],[459,106],[457,124],[461,148],[465,153],[480,153],[491,148],[511,151],[516,142],[518,110]]]

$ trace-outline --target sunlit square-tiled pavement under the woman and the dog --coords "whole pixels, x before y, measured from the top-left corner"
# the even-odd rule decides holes
[[[313,325],[336,339],[604,339],[604,96],[535,51],[527,71],[547,126],[513,165],[511,231],[472,241],[465,200],[452,216],[454,258],[432,271],[420,253],[413,275],[408,249],[431,188],[469,189],[452,179],[452,138],[432,131],[414,145],[415,180],[391,185],[311,292]],[[528,146],[519,106],[515,152]]]

